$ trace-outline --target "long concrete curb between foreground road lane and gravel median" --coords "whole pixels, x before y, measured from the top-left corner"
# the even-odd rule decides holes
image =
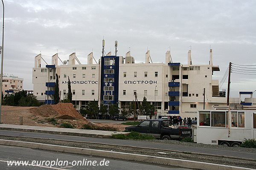
[[[140,162],[154,163],[154,164],[161,164],[161,165],[164,164],[164,165],[170,165],[175,167],[193,168],[196,170],[253,170],[253,169],[244,168],[244,167],[234,167],[234,166],[227,166],[227,165],[221,165],[221,164],[163,158],[158,156],[147,156],[147,155],[132,154],[132,153],[121,153],[121,152],[114,152],[114,151],[58,146],[58,145],[52,145],[52,144],[40,144],[40,143],[33,143],[33,142],[10,141],[10,140],[4,140],[4,139],[0,139],[0,144],[7,145],[7,146],[29,147],[33,149],[49,150],[49,151],[63,152],[63,153],[100,156],[100,157],[112,158],[112,159],[140,161]]]

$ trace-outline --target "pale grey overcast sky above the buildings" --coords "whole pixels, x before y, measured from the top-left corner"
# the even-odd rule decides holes
[[[136,62],[145,62],[150,50],[153,62],[165,62],[171,49],[173,62],[213,65],[223,78],[229,62],[256,65],[255,0],[4,0],[3,73],[24,79],[32,90],[34,58],[42,53],[51,64],[57,53],[62,60],[76,51],[82,64],[93,51],[96,60],[105,51],[125,56],[131,48]],[[0,12],[2,14],[2,7]],[[1,24],[3,19],[1,17]],[[2,35],[2,34],[1,34]],[[60,63],[60,62],[59,62]],[[42,61],[42,65],[44,65]],[[256,70],[256,66],[254,66]],[[243,68],[242,68],[243,70]],[[231,74],[231,97],[238,91],[256,90],[256,71]],[[227,89],[227,80],[221,89]],[[220,90],[221,90],[220,89]]]

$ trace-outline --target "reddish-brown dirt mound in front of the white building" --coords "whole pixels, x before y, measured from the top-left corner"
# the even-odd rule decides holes
[[[60,117],[59,119],[84,119],[73,107],[72,103],[58,103],[57,105],[41,105],[30,109],[35,115],[45,117]],[[63,117],[63,118],[62,118]]]

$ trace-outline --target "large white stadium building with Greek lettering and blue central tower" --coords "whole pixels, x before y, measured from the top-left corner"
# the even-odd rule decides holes
[[[69,77],[73,104],[77,105],[77,109],[94,99],[104,105],[113,103],[119,108],[127,108],[137,94],[139,102],[145,96],[148,102],[155,105],[157,118],[195,117],[197,111],[204,107],[211,109],[212,105],[227,102],[225,94],[219,91],[218,80],[212,79],[214,72],[219,71],[219,67],[212,64],[212,49],[206,65],[193,65],[191,50],[188,51],[186,64],[171,62],[170,56],[170,51],[167,51],[165,63],[151,63],[150,51],[147,51],[145,63],[134,63],[130,51],[125,57],[111,55],[110,52],[100,57],[98,64],[93,64],[93,53],[90,53],[87,64],[76,64],[76,53],[72,53],[67,64],[58,65],[58,54],[55,54],[51,65],[42,67],[39,54],[35,57],[32,74],[34,95],[40,101],[54,103],[57,73],[61,99],[67,94]]]

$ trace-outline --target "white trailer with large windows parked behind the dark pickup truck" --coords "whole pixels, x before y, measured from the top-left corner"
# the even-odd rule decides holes
[[[238,147],[256,138],[256,110],[198,111],[194,142]]]

